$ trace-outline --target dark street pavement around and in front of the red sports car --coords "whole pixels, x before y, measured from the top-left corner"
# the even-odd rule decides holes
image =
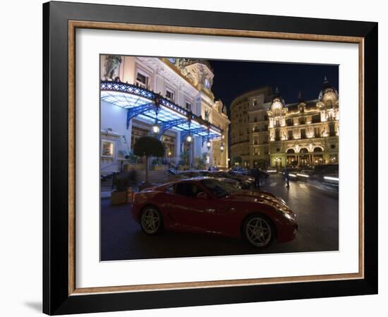
[[[299,226],[295,240],[257,250],[243,240],[212,235],[165,231],[150,237],[133,220],[131,204],[111,206],[109,199],[102,199],[101,260],[338,250],[338,195],[302,181],[290,182],[286,188],[281,175],[270,175],[260,189],[283,198],[295,211]]]

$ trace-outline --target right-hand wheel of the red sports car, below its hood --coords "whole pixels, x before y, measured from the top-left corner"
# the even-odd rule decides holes
[[[252,215],[243,225],[245,239],[253,247],[264,249],[274,240],[274,227],[271,221],[262,215]]]

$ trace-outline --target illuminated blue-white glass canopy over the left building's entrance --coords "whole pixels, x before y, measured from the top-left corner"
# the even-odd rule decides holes
[[[174,128],[211,139],[222,136],[222,129],[148,89],[107,80],[101,82],[100,88],[102,101],[128,109],[127,127],[129,121],[137,117],[147,123],[157,122],[162,132]]]

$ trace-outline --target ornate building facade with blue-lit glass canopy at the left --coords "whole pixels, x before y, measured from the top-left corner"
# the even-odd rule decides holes
[[[102,173],[119,170],[144,135],[161,139],[165,161],[186,151],[190,166],[227,166],[229,119],[207,61],[102,55],[100,66]]]

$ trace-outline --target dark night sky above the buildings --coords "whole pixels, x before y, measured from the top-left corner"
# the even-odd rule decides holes
[[[272,92],[279,88],[286,104],[302,99],[317,99],[325,75],[330,84],[338,87],[338,66],[298,63],[262,63],[251,61],[210,60],[214,70],[212,92],[228,108],[231,101],[244,92],[269,85]]]

